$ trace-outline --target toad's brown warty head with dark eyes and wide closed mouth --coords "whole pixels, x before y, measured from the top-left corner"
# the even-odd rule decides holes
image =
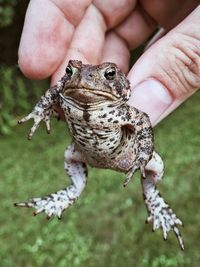
[[[80,102],[127,101],[130,83],[114,63],[83,64],[70,60],[63,76],[63,95]]]

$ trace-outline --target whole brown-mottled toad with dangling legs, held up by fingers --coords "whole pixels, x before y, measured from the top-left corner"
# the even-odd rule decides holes
[[[139,171],[148,213],[146,222],[152,224],[153,231],[161,228],[164,240],[172,230],[184,249],[179,229],[183,223],[157,188],[164,163],[155,150],[151,121],[145,112],[127,104],[131,93],[128,78],[115,63],[92,65],[69,60],[61,79],[19,123],[33,119],[29,140],[42,121],[49,133],[50,118],[59,118],[56,107],[60,107],[72,138],[64,152],[64,169],[71,185],[15,206],[34,208],[34,215],[44,212],[48,219],[60,219],[86,187],[87,166],[124,173],[124,187]]]

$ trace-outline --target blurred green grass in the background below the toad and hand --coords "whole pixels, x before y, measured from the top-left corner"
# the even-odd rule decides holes
[[[42,196],[69,183],[63,152],[70,138],[64,123],[53,123],[46,135],[31,123],[16,126],[0,140],[0,266],[2,267],[176,267],[200,264],[200,93],[196,93],[155,129],[157,151],[166,173],[160,191],[184,221],[186,249],[179,249],[171,233],[145,225],[139,175],[124,189],[123,174],[89,170],[88,185],[62,221],[32,216],[14,202]]]

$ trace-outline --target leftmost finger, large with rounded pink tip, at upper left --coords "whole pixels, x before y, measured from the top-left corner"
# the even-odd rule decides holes
[[[91,1],[79,1],[78,10],[71,2],[30,2],[19,46],[19,66],[28,77],[45,78],[62,62],[74,27]]]

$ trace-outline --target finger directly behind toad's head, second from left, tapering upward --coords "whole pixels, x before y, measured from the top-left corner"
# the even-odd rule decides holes
[[[52,83],[55,83],[63,75],[69,59],[79,59],[84,63],[98,64],[106,30],[102,14],[94,5],[90,5],[76,28],[62,64],[52,77]]]

